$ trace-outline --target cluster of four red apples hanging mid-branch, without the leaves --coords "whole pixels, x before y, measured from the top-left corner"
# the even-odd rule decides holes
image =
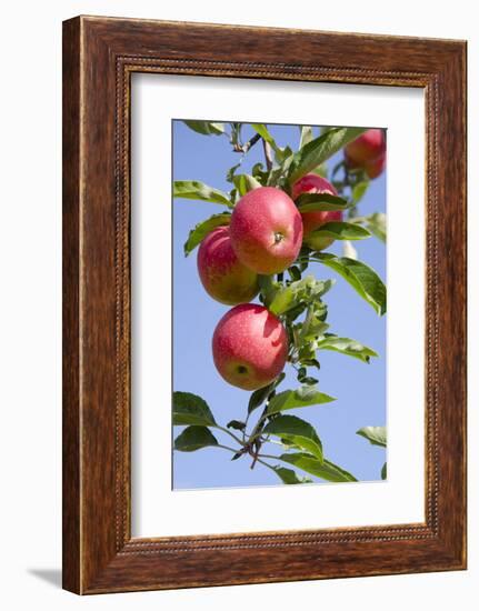
[[[317,174],[307,174],[292,189],[301,193],[336,190]],[[259,274],[281,273],[298,258],[305,241],[313,250],[332,238],[315,238],[320,226],[341,220],[342,212],[300,213],[281,189],[260,187],[236,204],[229,227],[219,227],[201,242],[198,271],[207,292],[234,306],[218,323],[212,351],[214,364],[232,385],[256,390],[268,385],[285,368],[288,335],[281,321],[263,306],[249,301],[259,292]]]

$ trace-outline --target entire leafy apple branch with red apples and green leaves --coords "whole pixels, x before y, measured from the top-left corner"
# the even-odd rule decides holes
[[[299,150],[295,152],[288,146],[279,147],[265,124],[251,123],[256,136],[242,143],[241,123],[230,123],[229,133],[223,123],[186,123],[206,136],[227,136],[233,150],[243,157],[262,141],[266,170],[262,163],[256,163],[250,174],[237,174],[240,161],[227,173],[227,181],[233,184],[229,193],[200,181],[173,183],[176,198],[227,208],[190,231],[184,254],[199,247],[198,272],[203,288],[214,300],[232,306],[213,332],[212,355],[218,372],[230,384],[253,391],[245,419],[231,420],[226,427],[216,420],[204,399],[174,391],[172,422],[186,427],[174,439],[174,450],[193,452],[217,447],[231,452],[231,460],[251,457],[251,469],[257,463],[265,465],[286,484],[312,481],[296,469],[325,481],[357,481],[349,471],[326,459],[315,427],[290,412],[336,400],[317,387],[319,351],[332,350],[363,363],[378,357],[371,348],[330,332],[328,304],[322,297],[335,281],[303,272],[310,263],[320,263],[342,277],[379,315],[386,312],[383,282],[358,260],[350,243],[372,234],[386,242],[385,214],[357,214],[370,178],[383,169],[382,131],[329,128],[313,138],[312,128],[302,126]],[[323,178],[326,162],[341,150],[343,159],[332,169],[329,182]],[[336,178],[341,169],[343,176]],[[342,257],[321,252],[335,240],[345,240]],[[256,297],[259,302],[251,303]],[[300,387],[278,391],[286,362],[296,371]],[[256,423],[251,422],[260,407],[261,414]],[[212,430],[229,439],[223,443]],[[371,431],[363,428],[358,434],[370,439],[371,432],[377,443],[378,431],[378,427]],[[386,433],[381,439],[386,445]],[[265,453],[263,447],[269,443],[276,443],[276,449],[279,444],[281,454],[272,455],[269,450]],[[385,473],[386,465],[381,477]]]

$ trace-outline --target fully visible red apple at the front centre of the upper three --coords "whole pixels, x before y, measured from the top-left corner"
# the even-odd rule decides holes
[[[236,204],[230,234],[233,250],[245,266],[257,273],[280,273],[296,260],[301,248],[301,214],[281,189],[259,187]]]

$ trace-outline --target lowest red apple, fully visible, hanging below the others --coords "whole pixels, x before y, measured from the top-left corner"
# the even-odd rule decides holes
[[[218,322],[212,339],[214,365],[233,387],[256,390],[281,373],[288,335],[281,321],[263,306],[242,303]]]

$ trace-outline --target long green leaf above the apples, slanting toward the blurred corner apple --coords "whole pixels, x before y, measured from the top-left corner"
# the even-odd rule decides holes
[[[311,172],[365,131],[366,129],[361,128],[332,128],[311,140],[295,154],[289,173],[290,184]]]

